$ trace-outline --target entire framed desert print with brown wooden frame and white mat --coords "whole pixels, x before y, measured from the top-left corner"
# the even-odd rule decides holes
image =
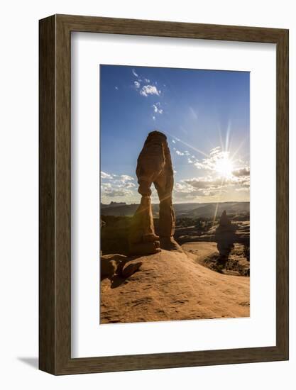
[[[288,30],[40,21],[50,374],[288,359]]]

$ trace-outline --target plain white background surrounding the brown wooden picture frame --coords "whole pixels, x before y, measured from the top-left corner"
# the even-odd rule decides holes
[[[294,1],[3,1],[0,385],[3,389],[295,389]],[[290,28],[290,362],[52,377],[38,372],[38,19],[53,13]],[[264,279],[262,281],[264,288]],[[145,335],[143,335],[143,338]],[[243,336],[242,336],[243,337]]]

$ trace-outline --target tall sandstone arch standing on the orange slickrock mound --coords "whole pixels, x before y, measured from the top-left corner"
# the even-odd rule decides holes
[[[180,250],[175,242],[175,212],[172,208],[174,185],[172,160],[167,138],[159,131],[148,134],[136,167],[141,204],[131,221],[129,247],[132,255],[149,255],[165,250]],[[159,237],[155,235],[151,208],[151,185],[160,200]]]

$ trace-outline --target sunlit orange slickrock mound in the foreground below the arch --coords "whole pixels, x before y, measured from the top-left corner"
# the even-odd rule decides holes
[[[141,262],[131,277],[114,274],[101,282],[101,323],[249,316],[248,277],[219,274],[185,252],[162,250],[130,260]]]

